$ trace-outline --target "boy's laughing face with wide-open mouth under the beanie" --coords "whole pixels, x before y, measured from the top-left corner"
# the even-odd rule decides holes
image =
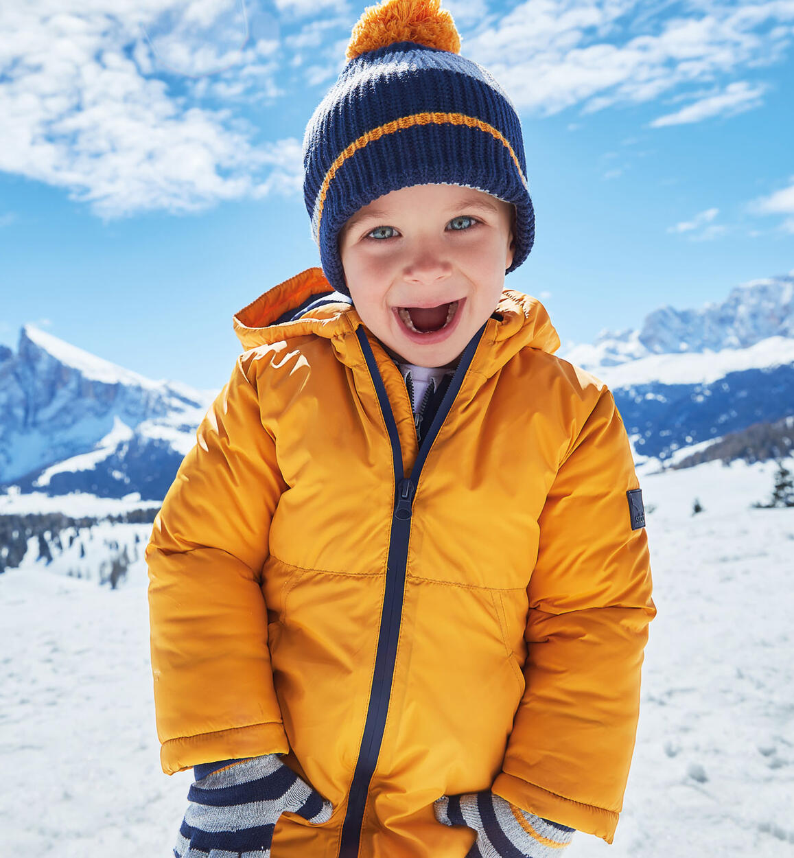
[[[362,322],[409,363],[452,363],[496,309],[512,219],[508,202],[454,184],[400,188],[359,208],[339,240]]]

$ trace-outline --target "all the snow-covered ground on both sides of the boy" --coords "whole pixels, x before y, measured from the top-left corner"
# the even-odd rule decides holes
[[[794,856],[794,509],[749,509],[773,470],[643,479],[659,616],[635,759],[614,845],[580,834],[571,858]],[[146,571],[115,591],[65,571],[0,575],[2,854],[165,858],[191,778],[159,770]]]

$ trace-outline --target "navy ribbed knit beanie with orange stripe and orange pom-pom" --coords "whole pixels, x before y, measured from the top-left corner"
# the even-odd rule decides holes
[[[439,0],[386,0],[353,27],[348,63],[304,136],[304,200],[322,269],[347,293],[338,239],[359,208],[414,184],[460,184],[515,206],[512,271],[535,216],[519,118],[490,74],[461,57]]]

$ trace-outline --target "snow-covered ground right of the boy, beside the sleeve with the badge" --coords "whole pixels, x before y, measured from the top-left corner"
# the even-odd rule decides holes
[[[774,469],[642,480],[659,614],[635,758],[615,843],[571,858],[794,855],[794,509],[749,509]]]

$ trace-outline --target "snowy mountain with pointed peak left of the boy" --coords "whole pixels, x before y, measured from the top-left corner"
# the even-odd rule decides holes
[[[161,500],[209,399],[28,325],[0,348],[0,489]]]

